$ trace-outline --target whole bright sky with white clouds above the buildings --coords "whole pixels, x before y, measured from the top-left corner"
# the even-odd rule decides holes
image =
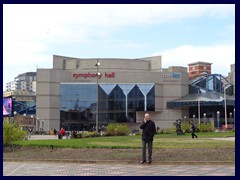
[[[53,55],[162,56],[162,67],[204,61],[228,75],[235,63],[234,4],[4,4],[3,90]]]

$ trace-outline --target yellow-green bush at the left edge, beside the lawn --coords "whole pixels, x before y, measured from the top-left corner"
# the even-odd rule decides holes
[[[27,136],[26,131],[21,131],[13,123],[3,123],[3,145],[9,145],[12,141],[22,140]]]

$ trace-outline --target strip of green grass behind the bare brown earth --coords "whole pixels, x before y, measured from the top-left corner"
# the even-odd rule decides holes
[[[234,141],[213,140],[216,137],[235,136],[234,132],[196,133],[198,139],[192,139],[191,134],[157,134],[154,138],[156,149],[192,149],[192,148],[235,148]],[[22,140],[14,144],[21,146],[39,146],[62,148],[107,148],[107,149],[140,149],[141,136],[114,136],[94,137],[82,139],[57,139],[57,140]]]

